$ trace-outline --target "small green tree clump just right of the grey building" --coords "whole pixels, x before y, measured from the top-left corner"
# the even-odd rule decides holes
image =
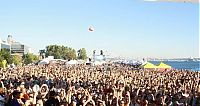
[[[30,64],[38,61],[38,57],[32,53],[27,53],[23,56],[24,64]]]

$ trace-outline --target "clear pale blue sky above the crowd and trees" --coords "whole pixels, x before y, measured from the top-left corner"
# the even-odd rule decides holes
[[[128,58],[199,57],[199,5],[141,0],[0,0],[0,37]],[[94,32],[88,32],[93,26]]]

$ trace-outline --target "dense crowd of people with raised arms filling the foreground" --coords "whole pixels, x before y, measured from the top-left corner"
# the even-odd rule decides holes
[[[0,106],[200,106],[200,73],[121,64],[0,70]]]

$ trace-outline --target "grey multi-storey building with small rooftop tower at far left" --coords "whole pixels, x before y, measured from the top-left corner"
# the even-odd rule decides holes
[[[22,56],[31,52],[30,47],[14,41],[11,35],[8,35],[7,42],[11,45],[11,54],[18,54]]]

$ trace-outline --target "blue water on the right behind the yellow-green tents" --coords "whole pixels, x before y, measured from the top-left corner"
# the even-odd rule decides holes
[[[193,71],[200,71],[199,61],[163,61],[175,69],[187,69]],[[160,61],[151,61],[151,63],[158,65]]]

